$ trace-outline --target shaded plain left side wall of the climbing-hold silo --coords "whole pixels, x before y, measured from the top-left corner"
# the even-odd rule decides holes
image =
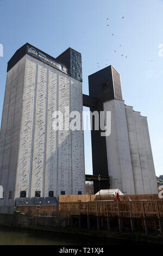
[[[4,206],[3,213],[9,214],[13,213],[14,206],[25,64],[23,57],[8,72],[0,133],[0,184],[4,191],[0,206]],[[12,191],[12,198],[9,198],[9,191]]]

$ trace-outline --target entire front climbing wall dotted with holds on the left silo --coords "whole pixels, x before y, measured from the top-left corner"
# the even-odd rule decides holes
[[[85,193],[83,131],[69,129],[70,112],[79,111],[82,123],[82,109],[81,82],[26,56],[16,198],[21,191]],[[53,130],[55,111],[63,114],[63,130]]]

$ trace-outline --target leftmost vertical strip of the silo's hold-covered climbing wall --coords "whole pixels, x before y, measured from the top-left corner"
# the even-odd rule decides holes
[[[17,164],[16,197],[20,191],[27,191],[30,196],[30,175],[32,173],[32,136],[34,123],[34,105],[36,93],[37,60],[33,57],[26,58],[26,72],[24,75],[23,112],[20,134],[20,149]]]

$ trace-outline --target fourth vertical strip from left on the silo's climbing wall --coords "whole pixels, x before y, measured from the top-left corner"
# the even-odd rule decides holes
[[[70,77],[64,74],[59,75],[59,97],[58,97],[58,110],[62,113],[65,112],[65,108],[69,108],[67,113],[69,114],[71,109],[71,88]],[[65,118],[63,119],[65,121]],[[65,191],[66,194],[72,193],[72,171],[71,171],[71,131],[66,129],[58,132],[58,193]]]

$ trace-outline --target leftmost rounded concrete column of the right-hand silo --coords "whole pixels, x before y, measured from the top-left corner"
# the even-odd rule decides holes
[[[104,102],[104,110],[111,111],[111,135],[106,137],[111,188],[119,188],[124,194],[134,194],[135,187],[124,101]]]

